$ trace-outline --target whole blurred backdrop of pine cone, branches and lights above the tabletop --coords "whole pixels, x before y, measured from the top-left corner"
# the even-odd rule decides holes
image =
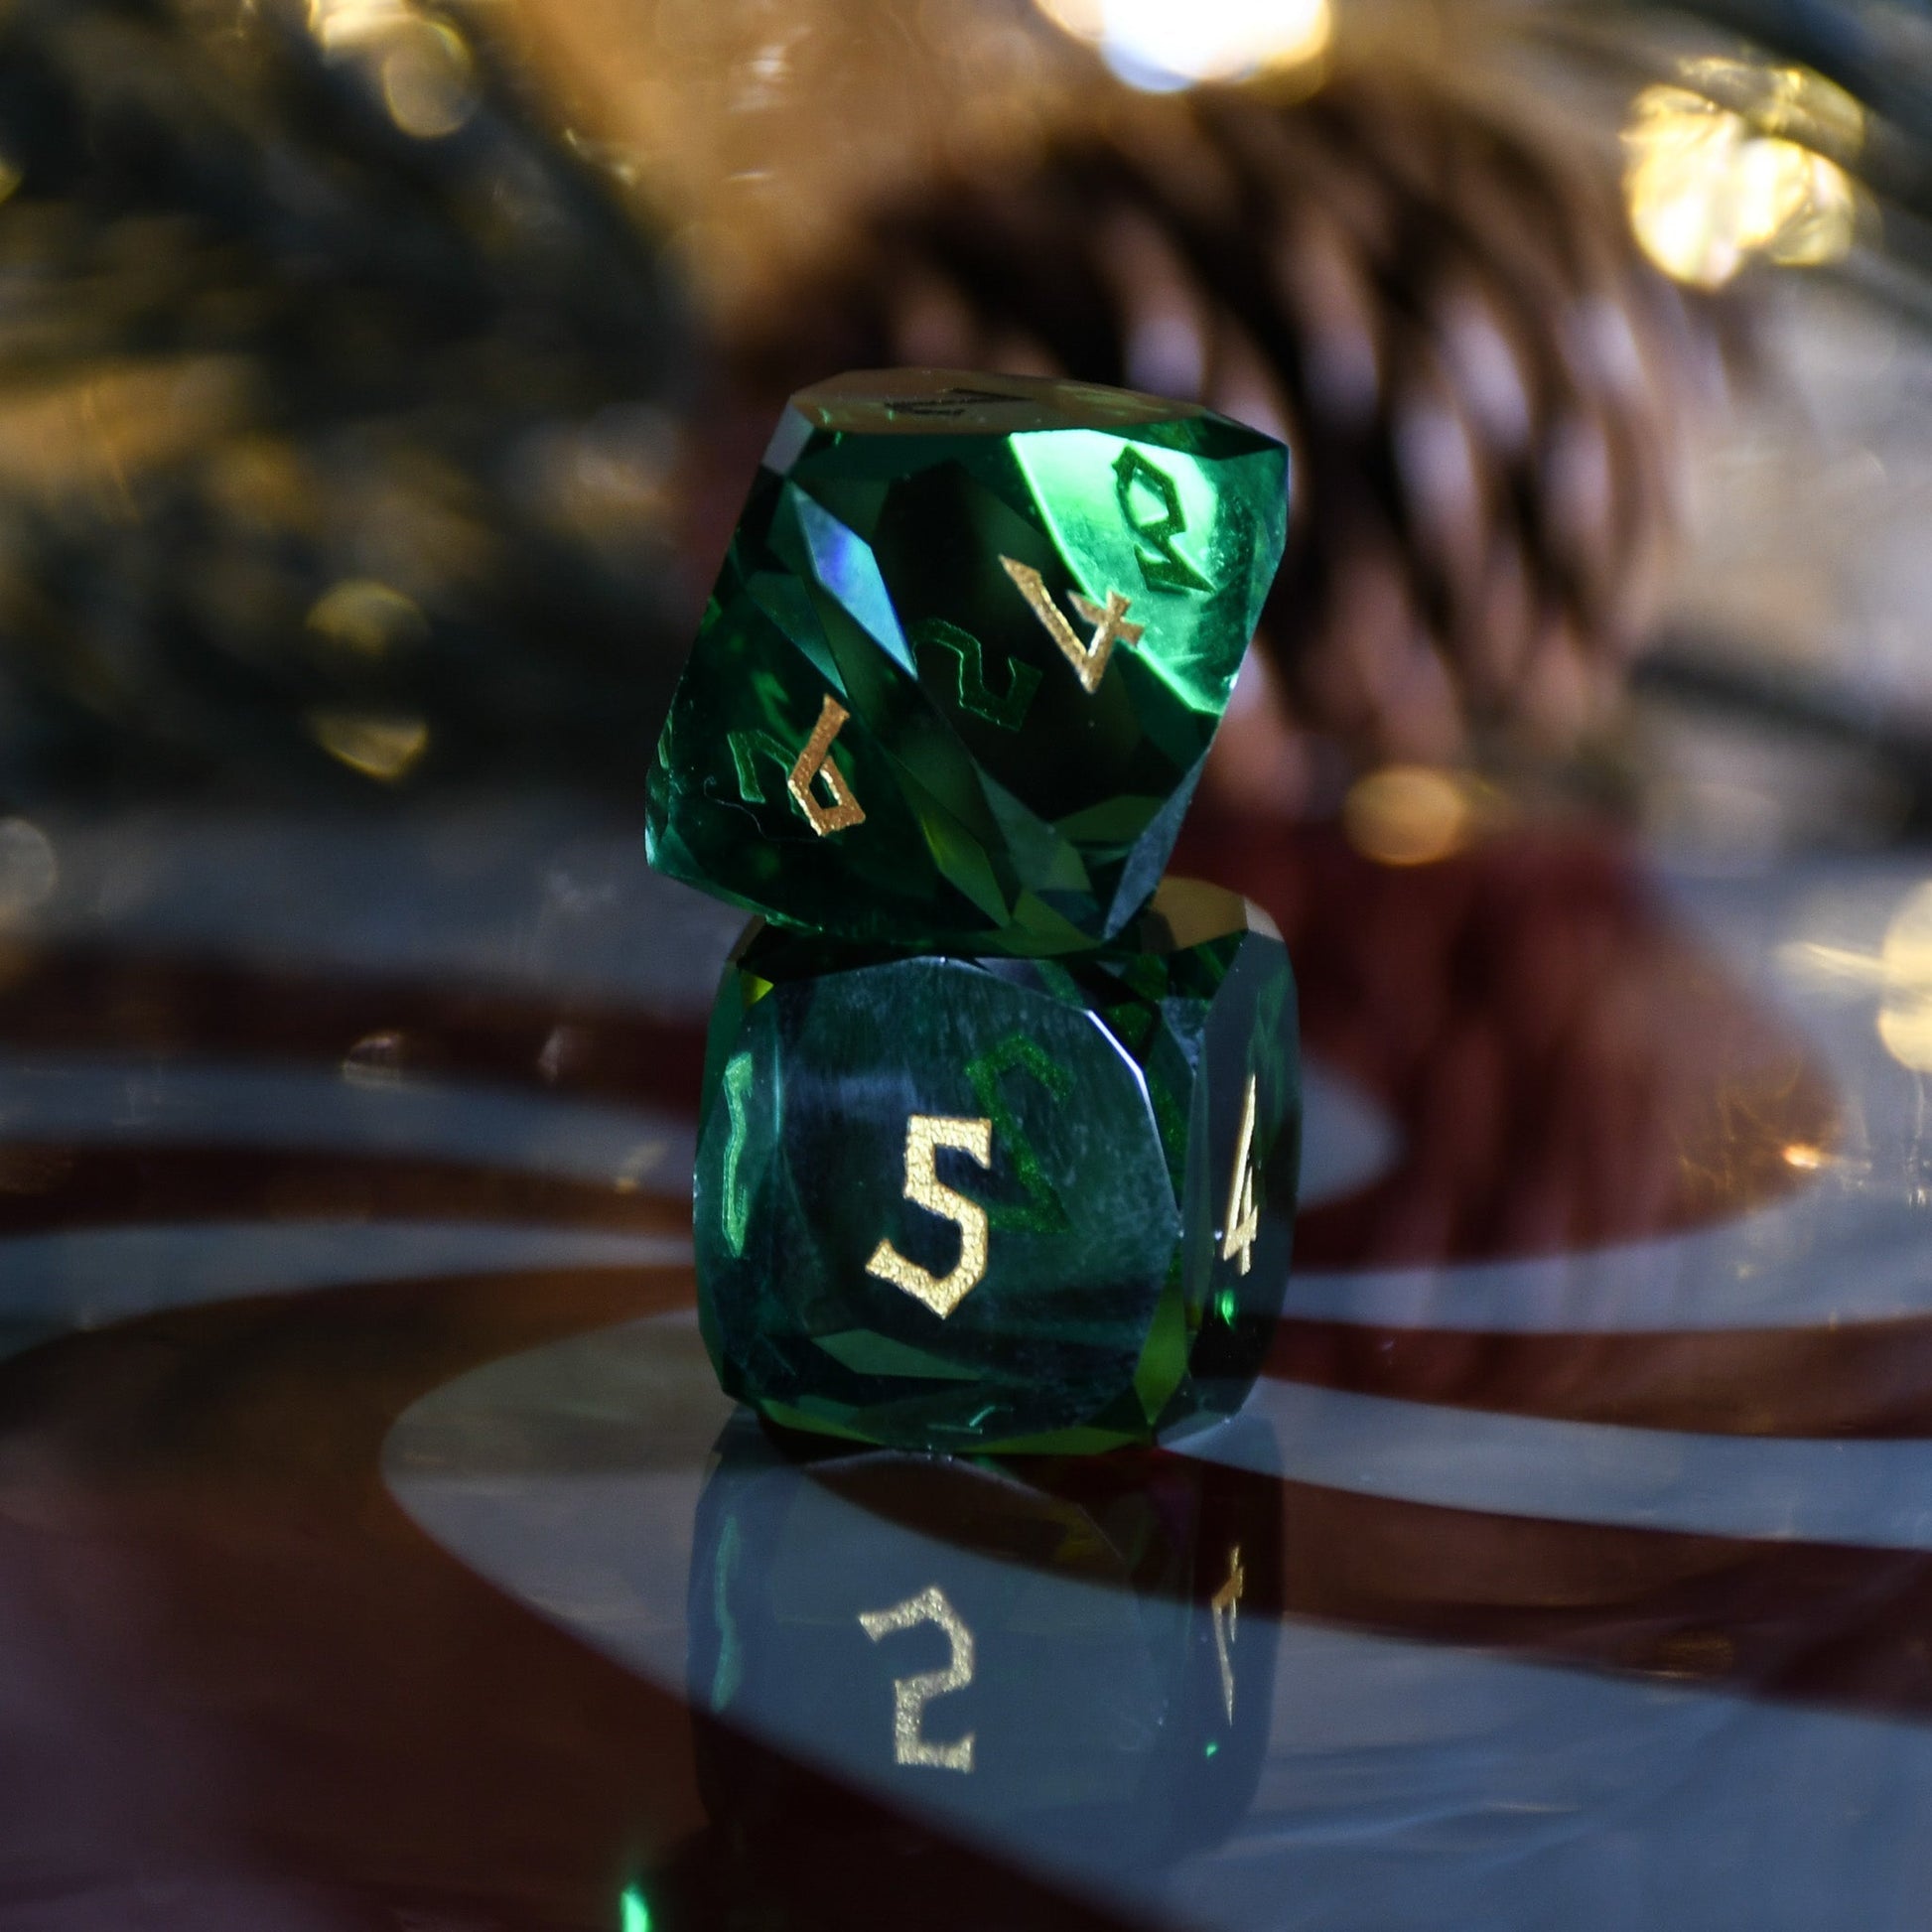
[[[1287,437],[1206,798],[1735,869],[1932,817],[1897,0],[10,0],[0,810],[641,817],[784,394]]]

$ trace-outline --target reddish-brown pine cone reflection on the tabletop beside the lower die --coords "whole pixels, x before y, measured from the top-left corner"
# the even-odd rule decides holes
[[[1803,1180],[1835,1107],[1602,837],[1376,866],[1323,829],[1188,821],[1175,867],[1281,925],[1302,1043],[1395,1117],[1401,1155],[1296,1225],[1296,1267],[1567,1254],[1735,1215]]]

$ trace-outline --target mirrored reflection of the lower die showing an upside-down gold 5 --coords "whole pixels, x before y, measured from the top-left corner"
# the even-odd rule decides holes
[[[782,1833],[800,1760],[1070,1872],[1238,1820],[1273,1700],[1269,1482],[1163,1451],[796,1464],[748,1416],[719,1455],[690,1596],[715,1818]]]

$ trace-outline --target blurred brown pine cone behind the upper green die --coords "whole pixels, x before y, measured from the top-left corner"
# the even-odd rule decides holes
[[[1716,332],[1598,182],[1422,79],[1121,99],[922,185],[748,328],[753,410],[825,369],[1066,373],[1283,435],[1262,641],[1356,757],[1575,738],[1617,690]]]

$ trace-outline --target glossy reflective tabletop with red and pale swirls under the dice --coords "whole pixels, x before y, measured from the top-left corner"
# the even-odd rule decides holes
[[[539,802],[0,827],[0,1926],[1924,1920],[1932,887],[1198,819],[1310,1063],[1235,1422],[779,1441],[734,920]]]

